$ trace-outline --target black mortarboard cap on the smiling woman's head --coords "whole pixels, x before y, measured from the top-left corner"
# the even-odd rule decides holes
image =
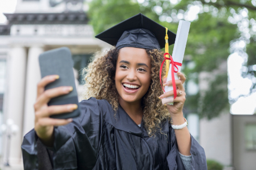
[[[172,45],[175,42],[176,34],[170,30],[167,34],[168,43]],[[166,28],[139,13],[95,37],[118,49],[123,47],[161,49],[166,44],[165,36]]]

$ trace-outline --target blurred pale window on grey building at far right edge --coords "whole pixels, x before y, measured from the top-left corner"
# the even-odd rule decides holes
[[[246,144],[246,149],[256,150],[256,124],[246,124],[245,144]]]

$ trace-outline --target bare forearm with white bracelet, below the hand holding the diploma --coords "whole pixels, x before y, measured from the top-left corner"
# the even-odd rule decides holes
[[[180,125],[185,122],[183,113],[172,115],[172,120],[174,125]],[[190,154],[191,137],[190,137],[190,132],[188,131],[188,128],[185,127],[182,129],[175,129],[175,136],[176,136],[179,152],[182,155],[187,155],[187,156],[191,155]]]

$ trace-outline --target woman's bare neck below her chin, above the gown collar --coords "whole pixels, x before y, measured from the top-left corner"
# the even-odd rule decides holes
[[[142,121],[142,105],[141,100],[136,102],[126,102],[120,96],[118,97],[118,102],[121,107],[125,110],[125,112],[135,121],[137,124],[141,124]]]

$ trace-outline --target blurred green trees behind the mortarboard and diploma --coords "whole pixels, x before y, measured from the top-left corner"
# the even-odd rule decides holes
[[[196,84],[202,72],[208,73],[210,78],[208,89],[187,96],[185,110],[198,112],[200,117],[210,119],[218,116],[223,109],[229,109],[229,102],[237,100],[228,99],[227,66],[220,71],[221,65],[227,63],[229,54],[236,50],[230,48],[232,42],[247,42],[246,48],[240,50],[248,54],[248,69],[243,76],[248,77],[249,74],[255,78],[255,6],[255,0],[176,0],[176,3],[175,0],[94,0],[89,4],[88,15],[96,34],[139,12],[174,33],[179,20],[191,21],[182,72],[187,75],[187,82]],[[193,11],[197,14],[191,18]],[[242,27],[246,24],[244,32]],[[170,53],[172,49],[173,45],[169,46]],[[252,90],[254,87],[255,84]]]

